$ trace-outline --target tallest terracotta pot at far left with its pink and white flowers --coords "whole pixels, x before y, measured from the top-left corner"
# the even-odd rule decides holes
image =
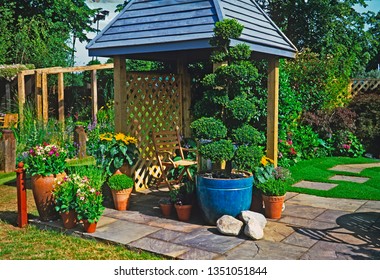
[[[57,145],[43,143],[23,153],[21,159],[31,175],[34,201],[42,221],[59,218],[53,199],[54,181],[66,173],[67,151]]]

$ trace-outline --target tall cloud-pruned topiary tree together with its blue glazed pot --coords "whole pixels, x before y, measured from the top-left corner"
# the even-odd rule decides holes
[[[213,225],[223,215],[237,216],[250,208],[252,171],[263,155],[260,133],[253,127],[260,114],[253,93],[258,71],[249,46],[230,46],[242,30],[236,20],[216,23],[211,61],[222,66],[202,79],[204,95],[195,104],[198,118],[191,123],[199,155],[214,164],[225,161],[218,171],[201,166],[196,176],[199,206]]]

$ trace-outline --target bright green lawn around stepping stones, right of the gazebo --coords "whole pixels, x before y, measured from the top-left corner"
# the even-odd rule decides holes
[[[297,165],[289,168],[292,173],[294,183],[301,180],[307,180],[313,182],[336,183],[339,185],[328,191],[310,190],[296,187],[289,187],[288,191],[313,194],[323,197],[380,200],[380,168],[364,169],[360,174],[329,170],[329,168],[341,164],[373,162],[380,161],[368,158],[331,157],[299,162]],[[361,176],[368,177],[370,179],[364,184],[329,180],[329,178],[334,175]]]

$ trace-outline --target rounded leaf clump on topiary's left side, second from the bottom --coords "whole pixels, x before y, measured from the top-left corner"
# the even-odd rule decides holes
[[[221,120],[203,117],[190,125],[198,139],[219,139],[227,136],[227,128]]]

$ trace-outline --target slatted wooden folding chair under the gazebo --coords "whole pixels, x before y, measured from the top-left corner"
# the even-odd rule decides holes
[[[180,184],[185,174],[189,180],[193,180],[190,167],[197,165],[197,161],[185,158],[184,151],[196,152],[194,149],[183,148],[181,145],[181,137],[179,127],[175,130],[164,130],[152,133],[152,140],[155,148],[158,164],[161,169],[161,176],[158,178],[157,187],[167,185],[169,189],[173,189],[173,185]],[[174,157],[179,160],[174,161]],[[177,169],[179,175],[177,178],[170,178],[169,172]]]

